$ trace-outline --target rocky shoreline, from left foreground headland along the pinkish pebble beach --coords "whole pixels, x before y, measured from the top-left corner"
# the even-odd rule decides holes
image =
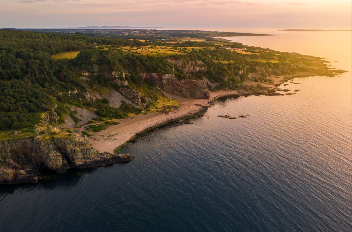
[[[278,90],[277,86],[293,78],[279,77],[279,79],[274,79],[274,83],[270,83],[270,86]],[[245,85],[251,85],[251,82],[245,82]],[[212,105],[213,100],[229,95],[277,96],[285,94],[275,91],[257,93],[241,89],[213,90],[208,92],[203,99],[200,96],[197,96],[199,97],[197,99],[181,98],[180,106],[169,107],[170,111],[167,112],[156,111],[123,119],[120,124],[97,132],[94,137],[90,138],[77,134],[79,131],[62,133],[58,127],[48,124],[46,136],[40,135],[38,131],[34,138],[13,138],[0,141],[0,184],[38,183],[38,180],[42,179],[39,170],[43,168],[62,173],[70,168],[93,168],[131,161],[133,157],[129,154],[115,154],[120,150],[119,148],[128,144],[128,141],[133,140],[134,142],[136,141],[134,139],[142,132],[171,121],[191,124],[186,119],[205,112]],[[55,120],[51,119],[51,121]]]

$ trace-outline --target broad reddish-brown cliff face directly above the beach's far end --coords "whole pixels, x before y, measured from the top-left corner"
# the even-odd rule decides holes
[[[166,93],[209,99],[210,94],[202,80],[178,80],[175,74],[141,73],[145,81],[151,80],[153,84],[163,88]]]

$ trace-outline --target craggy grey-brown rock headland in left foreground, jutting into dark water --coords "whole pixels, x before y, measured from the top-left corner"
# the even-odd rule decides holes
[[[86,135],[71,134],[67,138],[36,137],[0,142],[0,184],[36,183],[32,173],[41,168],[64,172],[69,168],[99,167],[130,161],[128,154],[99,153]]]

